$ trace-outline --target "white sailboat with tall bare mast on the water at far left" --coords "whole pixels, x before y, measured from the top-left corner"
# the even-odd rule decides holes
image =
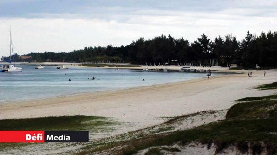
[[[12,55],[13,55],[13,65],[11,64],[11,52],[12,52]],[[3,65],[2,72],[20,72],[20,71],[22,71],[21,67],[15,67],[10,26],[9,26],[9,54],[10,54],[10,56],[9,56],[9,62],[10,63]]]

